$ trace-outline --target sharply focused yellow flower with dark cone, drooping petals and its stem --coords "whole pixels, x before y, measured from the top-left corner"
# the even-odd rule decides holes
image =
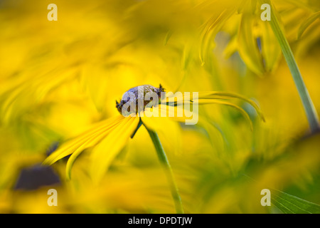
[[[154,96],[147,98],[148,92],[153,93]],[[127,140],[129,140],[130,137],[133,138],[139,127],[144,125],[156,147],[159,160],[164,166],[166,177],[171,188],[171,195],[174,199],[176,212],[179,214],[183,213],[181,197],[178,193],[178,187],[174,180],[169,160],[166,157],[159,136],[157,135],[156,130],[154,130],[156,128],[154,128],[154,120],[151,118],[154,116],[165,116],[166,118],[174,118],[177,121],[186,121],[188,118],[191,118],[191,116],[194,117],[194,115],[198,115],[198,113],[191,113],[191,104],[193,105],[194,110],[195,107],[198,107],[198,104],[218,103],[237,108],[247,120],[250,120],[249,116],[242,108],[221,100],[228,98],[240,98],[245,100],[257,110],[257,113],[261,117],[262,115],[257,108],[257,105],[251,100],[247,100],[240,95],[232,93],[201,92],[200,95],[199,93],[193,94],[194,97],[193,95],[190,95],[190,93],[176,93],[176,95],[172,93],[166,95],[166,97],[162,98],[159,102],[157,98],[161,97],[161,93],[164,93],[164,88],[162,88],[161,85],[159,88],[150,85],[131,88],[124,93],[122,100],[117,102],[116,108],[121,115],[97,123],[91,130],[66,142],[59,150],[47,157],[43,164],[51,165],[61,158],[72,154],[68,159],[66,167],[66,175],[67,178],[70,179],[70,172],[75,159],[83,150],[94,147],[92,150],[91,172],[92,180],[97,182],[102,179],[112,160],[114,160],[114,157],[116,157],[126,145]],[[146,100],[149,100],[149,103]],[[198,111],[197,108],[196,110]],[[165,126],[162,126],[162,128],[165,128]]]

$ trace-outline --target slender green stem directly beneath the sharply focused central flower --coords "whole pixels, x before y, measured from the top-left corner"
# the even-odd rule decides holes
[[[144,125],[146,127],[146,125]],[[181,197],[178,192],[178,187],[176,185],[176,181],[174,180],[174,173],[172,172],[171,165],[169,164],[168,157],[166,157],[166,152],[164,152],[164,147],[162,147],[159,136],[153,130],[150,130],[146,127],[152,142],[154,142],[154,147],[156,147],[156,153],[159,157],[161,165],[164,167],[164,171],[166,172],[166,177],[168,179],[171,195],[174,198],[174,205],[176,207],[177,214],[183,214],[183,207],[181,202]]]

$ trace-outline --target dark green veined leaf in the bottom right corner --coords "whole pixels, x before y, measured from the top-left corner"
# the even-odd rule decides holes
[[[279,190],[271,190],[271,202],[285,214],[320,214],[320,205]]]

